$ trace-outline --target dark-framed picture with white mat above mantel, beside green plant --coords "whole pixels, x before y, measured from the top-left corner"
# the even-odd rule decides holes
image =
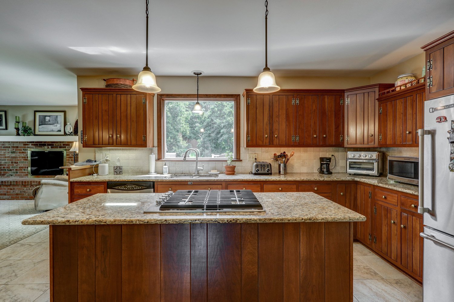
[[[66,111],[36,111],[35,135],[64,135]]]

